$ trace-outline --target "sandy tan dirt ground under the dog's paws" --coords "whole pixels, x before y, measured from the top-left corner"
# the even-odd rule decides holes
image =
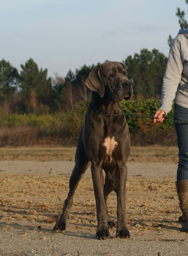
[[[177,164],[128,162],[129,239],[96,240],[96,206],[90,169],[76,190],[66,232],[53,232],[62,211],[73,162],[0,162],[0,255],[188,255],[188,234],[178,222]],[[108,198],[116,220],[116,194]]]

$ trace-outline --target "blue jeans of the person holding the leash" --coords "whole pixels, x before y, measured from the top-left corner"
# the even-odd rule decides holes
[[[188,121],[188,109],[174,104],[174,120]],[[174,123],[178,143],[177,181],[188,180],[188,123]]]

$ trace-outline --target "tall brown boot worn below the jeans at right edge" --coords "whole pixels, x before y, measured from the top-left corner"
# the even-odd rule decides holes
[[[188,180],[176,181],[176,188],[183,214],[183,218],[181,217],[179,220],[182,220],[182,230],[188,232]]]

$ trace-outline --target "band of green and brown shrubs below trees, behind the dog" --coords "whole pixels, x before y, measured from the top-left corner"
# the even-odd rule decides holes
[[[162,124],[153,124],[152,118],[159,107],[159,100],[127,100],[121,102],[129,125],[132,145],[176,145],[173,111]],[[37,116],[9,115],[0,117],[1,146],[29,146],[30,144],[63,144],[75,146],[84,123],[88,102],[80,102],[75,110]],[[131,115],[129,114],[131,113]],[[134,114],[135,116],[132,116]]]

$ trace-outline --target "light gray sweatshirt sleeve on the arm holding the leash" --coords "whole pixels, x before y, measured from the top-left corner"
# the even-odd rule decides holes
[[[159,109],[164,110],[167,114],[172,109],[172,102],[175,98],[178,84],[181,80],[183,64],[181,54],[180,37],[175,37],[169,52],[169,58],[167,60],[166,70],[163,77],[163,86],[161,90],[161,104]]]

